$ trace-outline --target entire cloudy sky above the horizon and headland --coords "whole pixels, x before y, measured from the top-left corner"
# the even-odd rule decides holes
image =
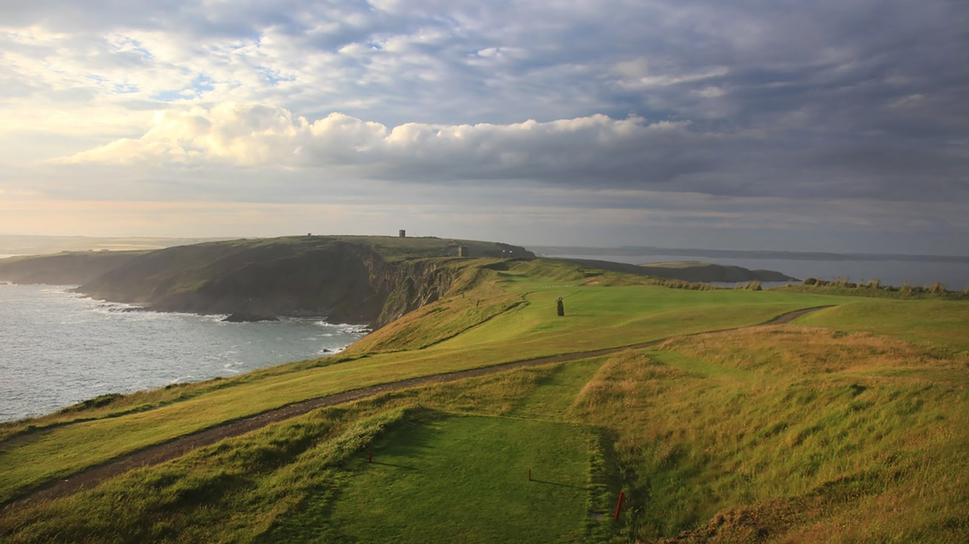
[[[0,233],[969,255],[965,0],[0,2]]]

